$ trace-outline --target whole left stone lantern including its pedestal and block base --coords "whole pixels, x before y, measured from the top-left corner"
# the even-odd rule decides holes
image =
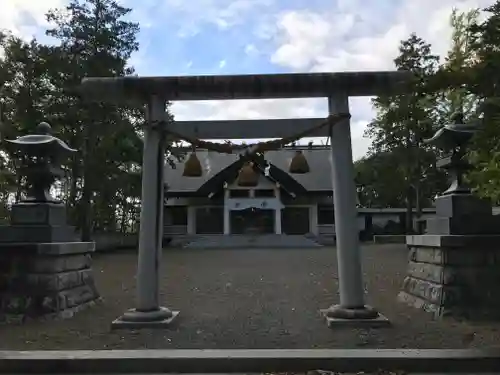
[[[95,244],[78,241],[65,204],[50,194],[63,156],[76,150],[50,133],[41,123],[37,134],[5,143],[26,194],[12,205],[10,225],[0,226],[0,323],[69,318],[99,299]]]

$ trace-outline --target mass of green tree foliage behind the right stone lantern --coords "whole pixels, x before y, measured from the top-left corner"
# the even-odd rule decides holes
[[[432,203],[433,196],[446,186],[443,172],[435,168],[436,157],[442,155],[422,141],[448,123],[456,111],[464,113],[465,121],[481,125],[470,153],[474,170],[469,179],[480,194],[500,203],[497,84],[500,78],[500,1],[484,11],[486,17],[482,22],[479,22],[478,9],[452,12],[450,50],[439,66],[431,46],[421,38],[411,35],[401,42],[396,68],[413,72],[415,78],[407,88],[409,95],[378,97],[373,102],[376,117],[366,132],[373,144],[369,157],[360,161],[370,167],[358,165],[365,174],[371,168],[376,169],[368,175],[381,179],[381,182],[372,181],[378,198],[371,204],[390,205],[393,197],[402,197],[406,191],[409,208],[413,205],[409,199],[411,187],[419,182],[420,203],[424,206]],[[381,172],[388,170],[386,163],[393,165],[392,175]],[[405,183],[400,182],[403,180]],[[394,191],[388,197],[381,193],[383,186],[391,186],[391,191],[397,193]]]

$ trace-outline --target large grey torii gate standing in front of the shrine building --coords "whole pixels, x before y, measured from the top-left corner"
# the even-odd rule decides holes
[[[137,302],[112,326],[154,328],[170,324],[178,312],[160,306],[159,267],[163,231],[166,101],[315,98],[328,99],[329,115],[349,113],[349,96],[398,92],[407,72],[309,73],[236,76],[86,78],[81,89],[93,101],[135,102],[147,106],[142,160],[142,208],[137,267]],[[182,121],[170,130],[204,139],[274,138],[296,133],[319,119]],[[244,127],[243,127],[244,126]],[[387,320],[365,305],[358,239],[356,188],[350,121],[323,128],[330,136],[337,237],[340,304],[324,310],[328,325]]]

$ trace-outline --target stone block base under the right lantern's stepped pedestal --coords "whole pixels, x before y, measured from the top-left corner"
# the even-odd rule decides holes
[[[408,236],[399,300],[435,317],[500,318],[500,236]]]

